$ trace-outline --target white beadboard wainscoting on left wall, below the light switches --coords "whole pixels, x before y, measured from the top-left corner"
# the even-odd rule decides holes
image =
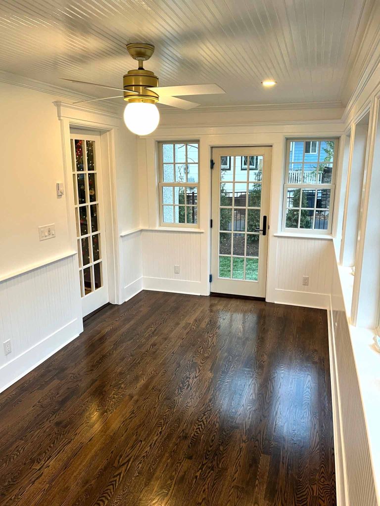
[[[83,330],[77,254],[32,267],[0,282],[0,391]],[[75,289],[78,287],[78,289]]]

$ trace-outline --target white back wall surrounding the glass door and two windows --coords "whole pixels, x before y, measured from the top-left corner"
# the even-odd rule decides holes
[[[310,236],[296,238],[281,233],[284,146],[287,137],[340,136],[343,134],[343,125],[332,120],[311,120],[299,124],[292,119],[289,111],[286,114],[287,117],[283,113],[283,121],[275,124],[226,123],[214,127],[206,125],[207,114],[204,112],[198,114],[201,126],[182,125],[183,113],[171,113],[169,119],[163,114],[164,125],[151,136],[138,141],[143,277],[144,280],[145,277],[149,278],[145,287],[209,294],[211,147],[272,145],[267,300],[327,308],[329,286],[326,280],[330,277],[330,264],[323,262],[326,239]],[[195,112],[192,115],[194,118]],[[175,139],[200,140],[200,233],[183,235],[183,232],[168,232],[159,227],[156,143]],[[335,200],[336,209],[338,200]],[[180,275],[174,273],[174,265],[180,266]],[[303,275],[310,276],[309,286],[302,285]]]

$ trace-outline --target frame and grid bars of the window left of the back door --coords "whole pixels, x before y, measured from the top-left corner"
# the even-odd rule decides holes
[[[164,182],[164,156],[163,156],[163,145],[164,144],[172,144],[173,146],[175,144],[197,144],[198,145],[198,182],[195,183],[195,182]],[[173,151],[174,151],[174,158],[173,158],[173,165],[174,165],[174,174],[175,174],[175,150],[174,150],[174,147],[173,147]],[[171,139],[168,139],[166,141],[159,141],[158,142],[158,167],[159,167],[159,170],[158,170],[158,173],[159,173],[159,179],[158,179],[158,192],[159,192],[159,216],[160,216],[160,224],[159,226],[162,227],[162,228],[188,228],[188,229],[199,229],[200,228],[200,225],[199,225],[199,209],[200,209],[200,205],[199,205],[199,202],[200,202],[200,141],[199,140],[183,140],[183,139],[176,139],[176,140],[171,140]],[[187,161],[187,147],[186,147],[186,161],[184,163],[188,163]],[[184,187],[184,188],[194,188],[196,187],[197,188],[197,204],[194,205],[194,207],[197,208],[197,223],[168,223],[168,222],[164,222],[164,202],[163,202],[163,195],[162,195],[162,189],[164,187],[170,187],[170,188],[175,188],[175,187]],[[176,204],[173,203],[173,208],[175,207]],[[186,209],[187,207],[191,207],[191,205],[187,205],[186,204],[186,197],[185,197],[185,203],[184,204],[180,204],[180,205],[183,205],[184,209],[185,209],[185,220],[187,221],[187,213],[186,213]],[[173,209],[174,210],[174,209]]]

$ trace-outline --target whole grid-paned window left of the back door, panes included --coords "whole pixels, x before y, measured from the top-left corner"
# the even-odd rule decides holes
[[[160,143],[160,223],[164,227],[198,226],[198,151],[198,142]]]

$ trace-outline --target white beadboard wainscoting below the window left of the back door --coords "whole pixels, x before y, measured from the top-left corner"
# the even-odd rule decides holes
[[[202,233],[164,230],[142,232],[143,286],[147,290],[207,294],[201,282]],[[207,258],[207,251],[205,251]],[[179,273],[174,266],[179,266]]]

